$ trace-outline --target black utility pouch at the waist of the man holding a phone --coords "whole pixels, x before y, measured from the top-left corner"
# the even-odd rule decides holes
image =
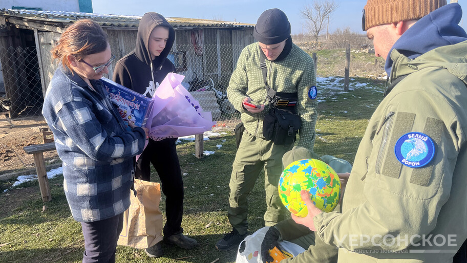
[[[288,109],[273,107],[263,120],[263,136],[277,145],[290,145],[295,142],[302,121]]]

